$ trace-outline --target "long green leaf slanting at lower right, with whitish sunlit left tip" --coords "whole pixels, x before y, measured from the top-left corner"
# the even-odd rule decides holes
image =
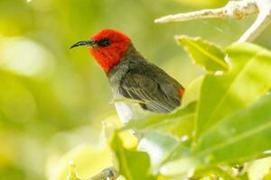
[[[178,175],[221,163],[242,163],[271,149],[271,94],[239,110],[202,134],[192,155],[161,168],[164,175]]]

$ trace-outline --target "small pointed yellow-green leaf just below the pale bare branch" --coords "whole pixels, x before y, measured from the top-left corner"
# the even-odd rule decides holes
[[[228,70],[225,53],[216,45],[201,38],[190,38],[183,35],[176,37],[176,40],[191,55],[194,63],[204,67],[207,71]]]

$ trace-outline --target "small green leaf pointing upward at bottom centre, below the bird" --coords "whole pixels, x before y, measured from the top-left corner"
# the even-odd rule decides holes
[[[117,132],[112,139],[111,148],[117,157],[120,175],[124,175],[127,180],[154,180],[150,158],[145,152],[125,148]]]

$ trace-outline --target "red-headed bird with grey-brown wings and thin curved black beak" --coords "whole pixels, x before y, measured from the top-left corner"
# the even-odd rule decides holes
[[[184,87],[162,68],[144,58],[132,40],[121,31],[105,29],[89,40],[74,43],[70,49],[87,46],[106,73],[115,99],[135,100],[142,110],[170,113],[181,105]],[[126,124],[135,118],[131,103],[116,102],[117,114]]]

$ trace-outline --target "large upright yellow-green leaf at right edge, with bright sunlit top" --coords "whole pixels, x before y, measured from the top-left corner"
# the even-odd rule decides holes
[[[271,86],[271,52],[257,45],[234,44],[226,49],[231,70],[207,75],[201,85],[196,117],[197,135],[230,113],[266,94]]]

